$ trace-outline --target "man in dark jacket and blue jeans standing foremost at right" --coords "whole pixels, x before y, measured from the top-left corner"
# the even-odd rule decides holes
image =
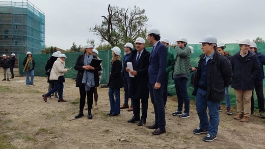
[[[196,95],[196,111],[200,126],[194,129],[193,133],[207,133],[203,140],[211,142],[217,139],[219,105],[225,96],[225,87],[229,86],[231,81],[232,70],[229,60],[216,51],[216,37],[205,36],[200,43],[203,54],[200,56],[198,69],[194,75],[195,86],[192,93]]]

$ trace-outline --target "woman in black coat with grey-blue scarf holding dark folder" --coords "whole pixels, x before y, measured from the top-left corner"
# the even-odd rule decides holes
[[[76,87],[79,87],[80,92],[80,105],[79,113],[74,118],[81,118],[84,116],[83,110],[86,104],[88,104],[88,119],[92,119],[92,105],[93,105],[93,92],[95,86],[99,86],[98,81],[98,71],[101,70],[101,66],[91,66],[93,58],[96,56],[92,55],[92,44],[87,44],[84,46],[85,52],[83,55],[78,56],[74,69],[77,70],[76,76]]]

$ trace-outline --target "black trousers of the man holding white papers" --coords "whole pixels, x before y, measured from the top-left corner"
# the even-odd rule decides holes
[[[134,100],[134,116],[136,118],[140,118],[140,99]],[[142,116],[141,119],[146,119],[147,117],[147,109],[148,109],[148,99],[142,99]]]

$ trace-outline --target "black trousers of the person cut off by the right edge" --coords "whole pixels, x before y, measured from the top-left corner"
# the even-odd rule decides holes
[[[263,81],[254,81],[255,91],[258,98],[258,109],[259,112],[265,112],[264,111],[264,96],[263,96]],[[254,90],[252,91],[251,96],[251,111],[254,111]]]

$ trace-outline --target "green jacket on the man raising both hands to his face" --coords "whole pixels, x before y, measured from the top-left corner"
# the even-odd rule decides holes
[[[178,76],[179,74],[187,74],[189,76],[191,67],[191,48],[186,46],[181,49],[176,46],[175,49],[177,55],[172,78],[174,76]]]

